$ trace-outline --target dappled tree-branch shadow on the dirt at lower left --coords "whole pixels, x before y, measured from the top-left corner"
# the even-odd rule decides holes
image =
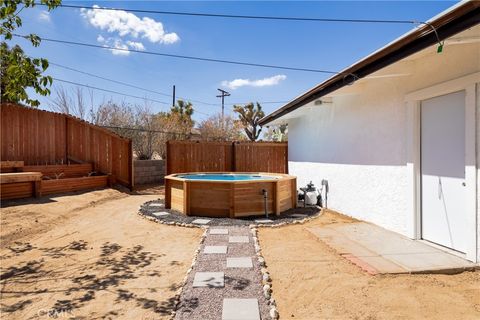
[[[166,301],[156,301],[129,290],[127,283],[129,280],[141,276],[161,276],[160,271],[148,270],[146,267],[164,255],[146,251],[141,245],[123,248],[117,243],[105,242],[101,246],[98,256],[93,258],[92,263],[82,265],[80,268],[70,265],[60,270],[49,268],[48,262],[51,259],[65,259],[79,251],[89,250],[91,249],[89,244],[86,241],[79,240],[63,247],[37,248],[29,243],[15,243],[9,249],[11,254],[2,257],[2,265],[6,259],[12,257],[21,259],[24,253],[31,250],[39,250],[41,258],[2,268],[0,274],[2,297],[7,296],[18,300],[18,302],[9,305],[2,302],[2,313],[13,314],[23,310],[42,295],[55,294],[56,297],[60,295],[61,298],[46,308],[48,316],[75,315],[76,310],[95,300],[101,291],[114,294],[112,304],[130,301],[134,302],[137,307],[148,309],[159,315],[168,315],[175,307],[173,298]],[[68,260],[68,262],[70,261]],[[172,261],[172,263],[175,264],[175,261]],[[67,280],[65,282],[67,285],[62,286],[62,288],[41,289],[42,286],[45,288],[42,284],[55,282],[56,280]],[[152,281],[154,281],[153,278]],[[11,291],[9,290],[11,285],[15,285],[15,287],[21,285],[22,288],[28,289]],[[34,289],[30,289],[32,287]],[[172,285],[167,290],[174,292],[177,289],[176,285]],[[149,289],[149,292],[156,292],[156,289]],[[106,308],[109,308],[109,306],[106,306]],[[103,317],[115,316],[118,316],[115,311],[103,315]]]

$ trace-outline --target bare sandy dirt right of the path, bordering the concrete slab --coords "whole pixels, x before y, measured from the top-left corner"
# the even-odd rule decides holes
[[[351,221],[259,229],[281,319],[480,319],[480,271],[370,276],[305,229]]]

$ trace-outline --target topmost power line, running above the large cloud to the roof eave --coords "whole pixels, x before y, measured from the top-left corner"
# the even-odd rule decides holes
[[[44,4],[37,3],[37,5],[44,5]],[[59,7],[73,8],[73,9],[126,11],[126,12],[133,12],[133,13],[154,13],[154,14],[176,15],[176,16],[211,17],[211,18],[282,20],[282,21],[310,21],[310,22],[343,22],[343,23],[425,24],[425,22],[416,21],[416,20],[337,19],[337,18],[254,16],[254,15],[216,14],[216,13],[203,13],[203,12],[180,12],[180,11],[127,9],[127,8],[98,7],[98,6],[95,7],[95,6],[81,6],[81,5],[71,5],[71,4],[60,4]]]

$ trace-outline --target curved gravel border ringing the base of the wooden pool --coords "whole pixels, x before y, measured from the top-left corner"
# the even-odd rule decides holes
[[[158,216],[155,215],[159,212],[168,212],[168,215]],[[255,220],[265,219],[265,216],[260,217],[245,217],[240,219],[230,219],[230,218],[206,218],[198,216],[186,216],[178,211],[165,209],[163,200],[155,200],[145,202],[140,207],[140,213],[144,216],[150,216],[164,223],[186,223],[191,224],[196,219],[209,219],[210,222],[208,226],[249,226],[256,224]],[[318,207],[306,207],[306,208],[294,208],[282,212],[279,216],[269,215],[269,219],[272,220],[270,225],[276,224],[285,224],[293,223],[305,219],[307,217],[312,217],[320,213],[320,208]]]

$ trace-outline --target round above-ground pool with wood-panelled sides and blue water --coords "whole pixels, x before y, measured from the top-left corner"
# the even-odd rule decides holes
[[[280,214],[297,203],[296,177],[280,173],[178,173],[165,177],[165,207],[186,215]]]

